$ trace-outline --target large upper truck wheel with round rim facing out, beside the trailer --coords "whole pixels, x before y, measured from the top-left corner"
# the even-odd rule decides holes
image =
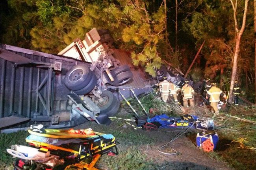
[[[93,77],[93,72],[86,64],[78,64],[72,67],[64,78],[64,84],[70,90],[80,90],[85,87]]]

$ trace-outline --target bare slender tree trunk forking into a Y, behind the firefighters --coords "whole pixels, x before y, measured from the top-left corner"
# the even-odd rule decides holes
[[[239,30],[238,25],[237,25],[237,0],[236,3],[234,4],[233,0],[230,0],[231,4],[232,4],[232,8],[234,11],[234,22],[235,22],[235,29],[236,29],[236,45],[235,45],[235,49],[234,49],[234,60],[233,60],[233,67],[232,67],[232,74],[231,74],[231,83],[230,83],[230,90],[229,90],[229,98],[228,98],[228,102],[229,103],[233,103],[233,89],[234,89],[234,82],[236,79],[236,74],[237,74],[237,59],[238,59],[238,55],[240,52],[240,42],[241,42],[241,37],[243,34],[243,31],[245,30],[245,22],[246,22],[246,15],[247,15],[247,9],[248,9],[248,2],[249,0],[245,0],[245,9],[244,9],[244,13],[243,13],[243,23],[242,23],[242,27]]]

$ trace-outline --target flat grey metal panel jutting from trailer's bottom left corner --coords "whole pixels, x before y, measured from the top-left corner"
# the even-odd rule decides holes
[[[9,116],[0,119],[0,128],[9,127],[11,125],[16,125],[28,121],[30,118],[21,118],[17,116]]]

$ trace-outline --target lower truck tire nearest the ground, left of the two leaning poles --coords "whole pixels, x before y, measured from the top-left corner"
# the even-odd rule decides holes
[[[120,107],[120,102],[117,97],[109,90],[102,91],[101,97],[105,98],[106,102],[98,103],[100,114],[106,114],[107,116],[115,115]]]

